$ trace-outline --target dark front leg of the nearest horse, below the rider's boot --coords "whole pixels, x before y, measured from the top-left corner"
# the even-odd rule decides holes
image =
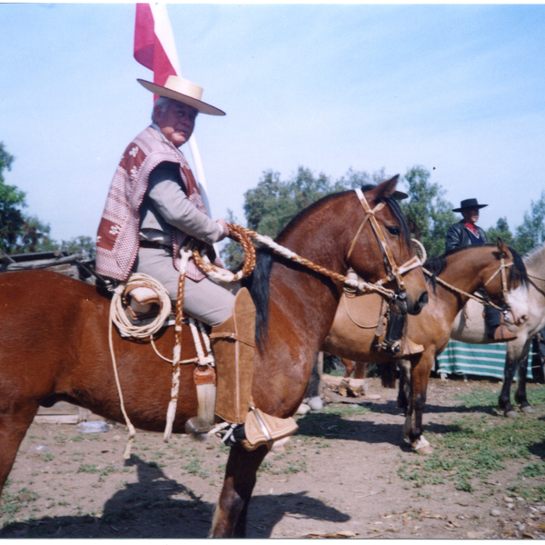
[[[246,451],[241,444],[231,448],[223,489],[213,516],[212,538],[245,538],[246,515],[255,486],[256,474],[268,449]]]

